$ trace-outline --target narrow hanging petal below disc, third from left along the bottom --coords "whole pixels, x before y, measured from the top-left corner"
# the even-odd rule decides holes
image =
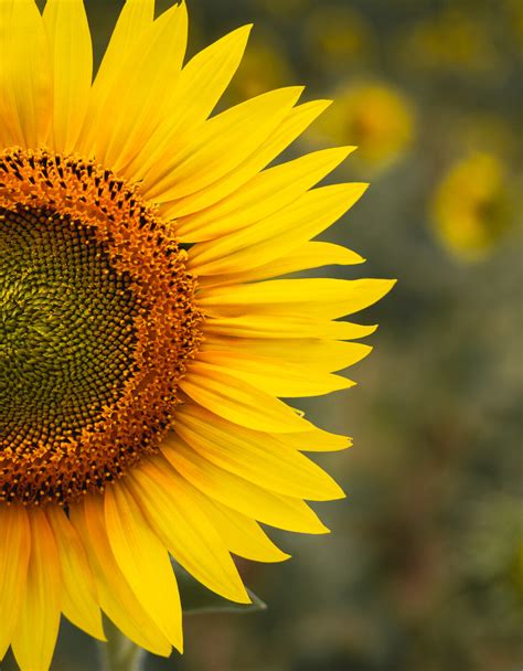
[[[49,507],[46,515],[61,562],[62,611],[89,636],[105,640],[98,597],[84,545],[61,508]]]

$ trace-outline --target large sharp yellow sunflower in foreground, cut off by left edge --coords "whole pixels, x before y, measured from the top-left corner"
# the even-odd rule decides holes
[[[363,260],[310,242],[364,184],[352,151],[268,167],[328,106],[280,88],[211,116],[250,26],[184,64],[183,3],[128,0],[93,82],[81,0],[0,2],[0,658],[49,669],[61,615],[182,650],[171,557],[248,603],[231,553],[287,555],[259,523],[324,533],[342,491],[305,450],[349,439],[280,397],[374,328],[338,318],[392,283],[270,279]]]

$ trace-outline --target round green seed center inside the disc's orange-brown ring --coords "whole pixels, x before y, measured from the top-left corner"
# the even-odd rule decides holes
[[[0,436],[77,437],[134,371],[139,306],[94,232],[50,210],[0,209]]]

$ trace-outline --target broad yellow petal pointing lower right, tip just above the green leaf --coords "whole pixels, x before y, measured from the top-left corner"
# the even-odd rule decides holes
[[[163,457],[131,472],[129,488],[172,556],[206,587],[233,601],[250,603],[231,555],[188,486]]]

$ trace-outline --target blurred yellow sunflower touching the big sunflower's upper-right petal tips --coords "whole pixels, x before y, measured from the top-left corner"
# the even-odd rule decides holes
[[[349,85],[319,120],[318,130],[334,142],[354,142],[365,170],[382,170],[410,145],[414,113],[408,99],[388,84]]]

